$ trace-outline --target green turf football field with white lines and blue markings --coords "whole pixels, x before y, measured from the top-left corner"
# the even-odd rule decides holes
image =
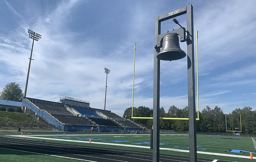
[[[127,150],[150,150],[150,134],[55,134],[5,135],[14,138],[45,140],[67,144],[91,145]],[[256,159],[255,138],[197,135],[197,157],[249,161]],[[188,134],[160,134],[160,153],[189,156]],[[253,160],[254,161],[254,160]]]

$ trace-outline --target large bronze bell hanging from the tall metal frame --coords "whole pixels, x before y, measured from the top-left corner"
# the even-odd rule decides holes
[[[184,58],[186,53],[179,46],[179,37],[177,34],[167,34],[163,37],[163,47],[157,54],[160,60],[172,61]]]

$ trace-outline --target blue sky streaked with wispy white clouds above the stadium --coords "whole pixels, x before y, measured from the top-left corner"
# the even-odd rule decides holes
[[[152,108],[154,18],[190,4],[194,7],[194,33],[199,31],[199,111],[207,105],[218,106],[224,113],[244,106],[255,110],[253,0],[1,0],[0,90],[10,82],[25,89],[30,29],[42,39],[34,43],[27,97],[59,101],[61,94],[67,93],[104,109],[106,67],[111,70],[106,110],[123,115],[132,105],[136,43],[134,106]],[[176,19],[186,27],[185,15]],[[161,31],[178,28],[170,20],[162,23]],[[186,43],[180,46],[187,53]],[[168,111],[172,105],[187,106],[186,57],[161,61],[160,82],[160,107]]]

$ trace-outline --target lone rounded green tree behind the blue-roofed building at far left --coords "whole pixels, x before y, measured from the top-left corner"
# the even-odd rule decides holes
[[[23,95],[20,85],[15,82],[11,82],[8,83],[3,88],[3,91],[0,92],[0,99],[21,102]]]

